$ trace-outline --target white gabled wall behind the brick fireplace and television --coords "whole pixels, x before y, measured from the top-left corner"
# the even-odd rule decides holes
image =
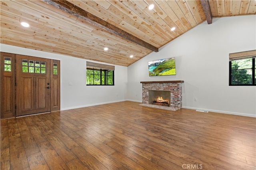
[[[128,67],[128,99],[142,101],[140,81],[184,80],[183,108],[256,117],[256,86],[228,85],[228,54],[252,49],[256,15],[204,22]],[[148,61],[166,57],[176,57],[176,75],[149,77]]]

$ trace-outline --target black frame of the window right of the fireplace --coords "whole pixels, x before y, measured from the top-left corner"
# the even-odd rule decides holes
[[[243,59],[248,59],[248,58],[241,58],[241,59],[236,59],[236,60],[231,60],[229,61],[229,86],[256,86],[256,80],[255,80],[255,57],[250,57],[252,58],[252,84],[232,84],[232,61],[236,60],[243,60]],[[250,68],[248,68],[250,69]],[[248,70],[244,69],[244,70]],[[235,69],[235,70],[243,70],[243,69]]]

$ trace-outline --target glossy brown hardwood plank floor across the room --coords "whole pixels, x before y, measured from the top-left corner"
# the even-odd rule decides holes
[[[255,170],[256,119],[120,102],[1,120],[1,170]]]

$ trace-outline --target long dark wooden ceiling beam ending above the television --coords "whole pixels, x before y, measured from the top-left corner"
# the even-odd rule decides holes
[[[124,30],[121,30],[120,28],[114,26],[113,24],[110,24],[105,20],[102,20],[101,18],[94,16],[93,14],[83,10],[82,8],[79,8],[78,6],[75,6],[74,4],[66,0],[43,0],[43,1],[51,6],[59,8],[60,10],[68,12],[71,15],[81,18],[82,20],[89,22],[90,24],[93,24],[104,30],[107,30],[110,33],[116,34],[122,38],[125,38],[126,40],[134,42],[152,51],[158,52],[157,47],[154,47],[153,45],[147,42],[144,42],[143,40],[140,40],[139,38],[133,36],[132,34],[125,32]]]

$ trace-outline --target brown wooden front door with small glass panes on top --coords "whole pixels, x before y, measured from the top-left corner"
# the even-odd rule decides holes
[[[51,60],[16,54],[16,116],[51,111]]]

